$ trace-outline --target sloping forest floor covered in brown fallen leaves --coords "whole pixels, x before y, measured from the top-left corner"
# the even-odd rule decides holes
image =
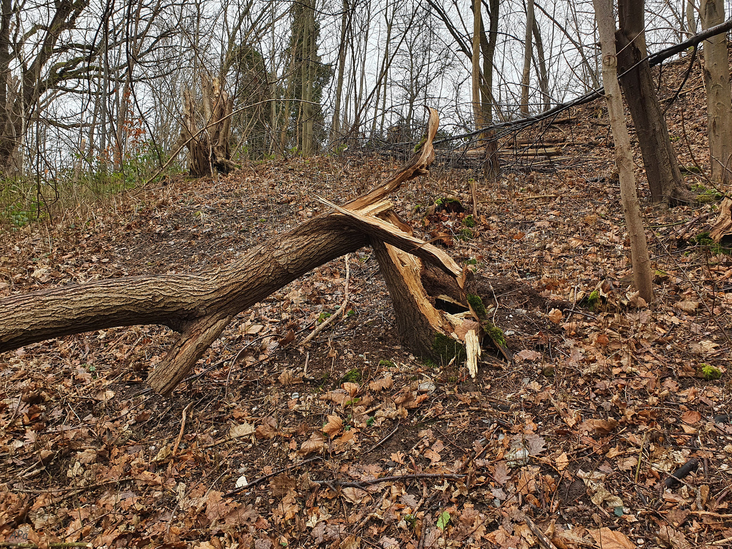
[[[661,97],[685,68],[665,67]],[[700,81],[696,68],[667,114],[684,167],[707,161]],[[520,134],[563,138],[560,160],[505,157],[498,182],[479,179],[474,227],[429,208],[470,207],[476,172],[452,156],[393,197],[490,288],[514,361],[486,348],[475,379],[400,346],[369,249],[348,256],[345,317],[313,342],[343,302],[344,258],[239,315],[168,397],[145,384],[174,340],[160,326],[0,354],[0,541],[529,548],[540,530],[559,549],[729,545],[732,258],[703,238],[717,203],[650,203],[636,151],[656,291],[643,307],[603,111]],[[324,212],[315,194],[343,203],[400,162],[250,163],[6,231],[0,296],[215,269]]]

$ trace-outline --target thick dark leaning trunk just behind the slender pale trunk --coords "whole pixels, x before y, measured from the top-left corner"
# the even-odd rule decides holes
[[[651,199],[670,203],[690,201],[681,179],[679,163],[668,138],[668,127],[656,97],[651,67],[645,59],[646,32],[644,1],[619,0],[620,25],[615,33],[618,72],[626,72],[620,83],[638,134]]]

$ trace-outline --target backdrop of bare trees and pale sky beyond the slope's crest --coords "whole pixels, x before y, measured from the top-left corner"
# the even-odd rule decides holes
[[[646,2],[649,51],[694,34],[698,18],[692,2]],[[473,7],[458,0],[4,0],[2,217],[22,225],[162,168],[196,173],[184,145],[216,108],[230,150],[211,168],[226,171],[346,149],[406,152],[425,103],[441,113],[443,137],[462,135],[474,129],[471,72],[486,122],[599,86],[590,1],[489,0],[479,24],[482,59],[471,67]]]

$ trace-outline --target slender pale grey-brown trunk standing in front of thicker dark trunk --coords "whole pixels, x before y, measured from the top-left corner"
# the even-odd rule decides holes
[[[615,140],[615,161],[620,177],[620,197],[630,235],[633,281],[640,296],[650,303],[653,301],[651,262],[646,244],[646,232],[643,230],[638,192],[635,188],[632,150],[630,149],[628,127],[625,124],[623,97],[618,83],[613,3],[612,0],[594,0],[594,7],[602,48],[602,83],[605,86],[605,100],[608,103],[610,127]]]

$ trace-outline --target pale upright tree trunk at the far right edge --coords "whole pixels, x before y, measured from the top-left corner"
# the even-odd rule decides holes
[[[710,29],[724,23],[725,5],[722,0],[702,0],[701,28]],[[706,87],[706,126],[709,134],[709,163],[712,182],[729,195],[732,190],[732,97],[730,69],[727,57],[727,35],[718,34],[704,40],[704,86]],[[710,233],[720,242],[732,233],[732,201],[725,198],[720,215]]]

